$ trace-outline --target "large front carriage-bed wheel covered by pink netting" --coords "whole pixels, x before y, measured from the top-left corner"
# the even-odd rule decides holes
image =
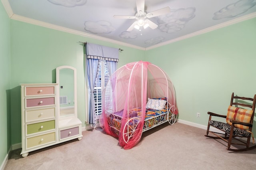
[[[126,122],[123,129],[123,139],[126,144],[134,136],[136,133],[140,133],[142,135],[142,130],[138,128],[138,125],[142,123],[142,121],[138,117],[133,117]],[[138,134],[136,134],[137,136]],[[140,140],[140,138],[138,138]]]

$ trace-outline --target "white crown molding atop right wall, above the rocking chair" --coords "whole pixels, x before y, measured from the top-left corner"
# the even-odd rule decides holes
[[[147,51],[149,49],[153,49],[153,48],[161,47],[163,45],[167,45],[167,44],[170,44],[170,43],[178,42],[178,41],[184,40],[186,38],[191,38],[191,37],[194,37],[194,36],[198,36],[200,34],[211,32],[211,31],[217,30],[219,28],[224,28],[226,26],[230,26],[232,24],[236,24],[238,22],[249,20],[249,19],[252,19],[252,18],[255,18],[255,17],[256,17],[256,12],[248,14],[248,15],[245,15],[245,16],[242,16],[242,17],[239,17],[239,18],[236,18],[236,19],[233,19],[233,20],[230,20],[230,21],[227,21],[227,22],[223,22],[221,24],[218,24],[218,25],[215,25],[215,26],[212,26],[212,27],[209,27],[209,28],[197,31],[197,32],[193,32],[191,34],[187,34],[187,35],[179,37],[179,38],[175,38],[175,39],[167,41],[167,42],[163,42],[163,43],[159,43],[159,44],[153,45],[151,47],[147,47],[145,50]]]

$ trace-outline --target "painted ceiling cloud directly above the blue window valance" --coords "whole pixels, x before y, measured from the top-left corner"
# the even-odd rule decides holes
[[[84,30],[89,31],[94,34],[109,34],[116,30],[111,24],[107,21],[86,21],[84,23]]]

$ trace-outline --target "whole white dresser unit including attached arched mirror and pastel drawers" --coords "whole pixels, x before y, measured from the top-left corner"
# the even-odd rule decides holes
[[[82,139],[82,122],[77,117],[76,69],[57,67],[56,82],[20,84],[23,157],[40,148]],[[60,105],[63,96],[68,102]]]

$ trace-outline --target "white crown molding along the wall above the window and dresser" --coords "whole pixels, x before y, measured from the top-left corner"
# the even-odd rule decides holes
[[[92,35],[92,34],[87,34],[85,32],[80,32],[80,31],[72,30],[70,28],[65,28],[65,27],[62,27],[62,26],[49,24],[47,22],[34,20],[34,19],[31,19],[31,18],[27,18],[27,17],[24,17],[24,16],[16,15],[16,14],[13,14],[10,18],[13,19],[13,20],[26,22],[26,23],[29,23],[29,24],[42,26],[42,27],[45,27],[45,28],[50,28],[50,29],[54,29],[54,30],[58,30],[58,31],[62,31],[62,32],[67,32],[67,33],[70,33],[70,34],[75,34],[75,35],[79,35],[79,36],[83,36],[83,37],[87,37],[87,38],[93,38],[93,39],[101,40],[101,41],[105,41],[105,42],[115,43],[115,44],[118,44],[118,45],[124,45],[126,47],[132,47],[132,48],[135,48],[135,49],[141,49],[141,50],[145,51],[145,48],[143,48],[143,47],[139,47],[139,46],[136,46],[136,45],[131,45],[129,43],[124,43],[124,42],[112,40],[110,38],[104,38],[104,37],[101,37],[101,36],[95,36],[95,35]]]

